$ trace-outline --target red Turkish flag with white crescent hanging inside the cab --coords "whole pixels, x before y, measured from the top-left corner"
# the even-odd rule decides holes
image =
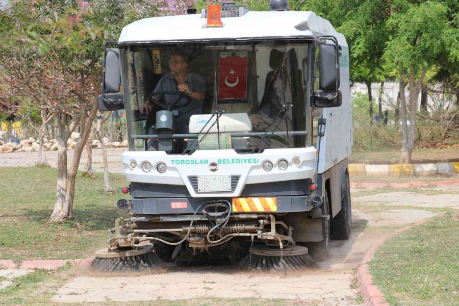
[[[218,99],[247,97],[247,52],[221,52]]]

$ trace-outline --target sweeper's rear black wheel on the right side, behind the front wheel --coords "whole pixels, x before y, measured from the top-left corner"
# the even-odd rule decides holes
[[[351,219],[351,199],[349,175],[345,175],[344,179],[344,198],[341,200],[341,210],[330,222],[331,239],[345,240],[350,237]]]

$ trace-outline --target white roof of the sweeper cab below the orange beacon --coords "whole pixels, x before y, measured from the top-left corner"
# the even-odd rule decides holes
[[[201,14],[146,18],[126,25],[118,43],[164,43],[176,41],[293,38],[337,33],[330,22],[313,12],[252,12],[221,18],[222,28],[206,28]],[[341,38],[341,39],[340,39]]]

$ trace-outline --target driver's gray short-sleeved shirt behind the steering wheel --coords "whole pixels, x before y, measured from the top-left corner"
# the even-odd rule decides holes
[[[206,81],[201,75],[188,72],[187,79],[185,83],[188,85],[188,88],[192,91],[203,91],[206,92]],[[177,82],[174,79],[174,75],[172,73],[166,73],[163,75],[161,80],[158,82],[153,93],[157,93],[160,91],[177,91]],[[161,99],[161,95],[154,95],[155,98]],[[164,104],[166,106],[170,106],[179,96],[175,94],[165,94],[164,95]],[[179,111],[179,116],[175,117],[175,126],[176,132],[178,133],[188,133],[188,124],[190,121],[191,115],[199,115],[202,114],[202,105],[203,101],[196,101],[191,99],[191,103],[188,103],[188,99],[183,97],[180,101],[175,105],[174,110]]]

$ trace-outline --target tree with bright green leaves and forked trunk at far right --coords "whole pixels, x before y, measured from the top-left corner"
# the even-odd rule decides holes
[[[400,162],[409,164],[414,148],[418,98],[426,71],[442,65],[442,57],[450,61],[459,59],[459,32],[454,21],[448,18],[448,7],[442,2],[397,1],[392,11],[388,19],[392,35],[384,58],[398,71],[402,112]],[[406,82],[410,89],[408,105],[404,95]]]

